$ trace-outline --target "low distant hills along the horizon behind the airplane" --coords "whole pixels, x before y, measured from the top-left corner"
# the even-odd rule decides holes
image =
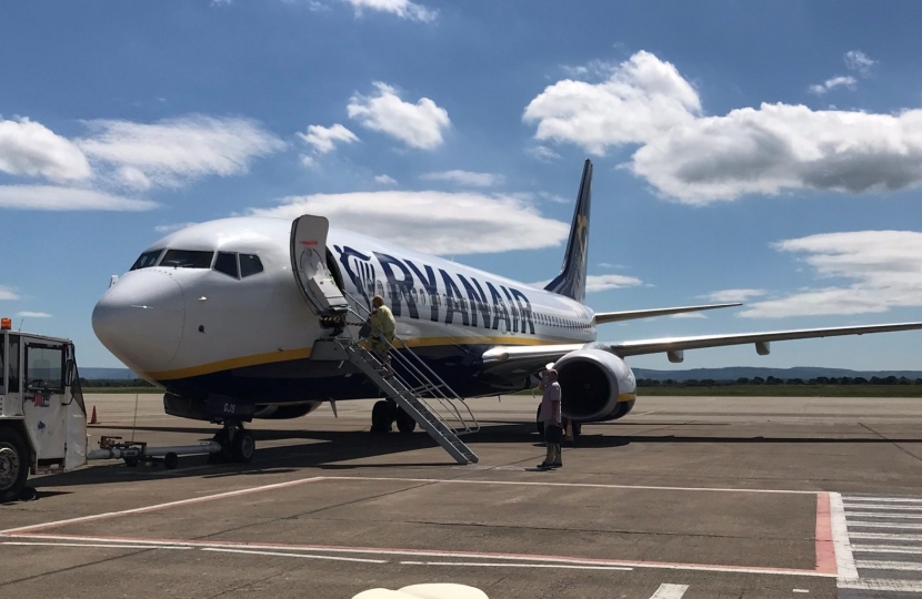
[[[888,376],[916,379],[922,378],[922,370],[849,370],[845,368],[820,368],[814,366],[798,366],[795,368],[760,368],[755,366],[726,366],[724,368],[690,368],[688,370],[653,370],[649,368],[633,368],[638,378],[652,378],[654,380],[701,380],[712,378],[714,380],[736,380],[738,378],[755,378],[761,376],[768,378],[802,378],[810,380],[820,376],[842,378],[843,376],[863,376],[870,379],[872,376],[885,378]],[[128,368],[80,368],[80,376],[83,378],[107,378],[111,380],[123,380],[138,378],[138,375]]]

